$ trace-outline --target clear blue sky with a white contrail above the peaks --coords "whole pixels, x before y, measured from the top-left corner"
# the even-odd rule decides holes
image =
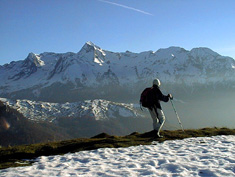
[[[235,59],[234,0],[0,0],[0,64],[28,53],[208,47]]]

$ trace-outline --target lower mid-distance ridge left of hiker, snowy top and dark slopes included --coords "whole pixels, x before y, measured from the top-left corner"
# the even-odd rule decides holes
[[[0,146],[151,130],[151,120],[136,106],[106,100],[59,104],[0,98]]]

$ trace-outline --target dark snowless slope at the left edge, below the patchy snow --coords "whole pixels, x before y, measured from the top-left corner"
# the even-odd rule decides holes
[[[68,139],[65,129],[48,122],[34,122],[0,101],[0,146]]]

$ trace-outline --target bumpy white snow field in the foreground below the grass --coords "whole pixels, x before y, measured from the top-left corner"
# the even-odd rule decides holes
[[[235,176],[235,136],[42,156],[0,176]]]

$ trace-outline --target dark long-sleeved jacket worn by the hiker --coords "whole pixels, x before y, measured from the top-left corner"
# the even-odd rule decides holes
[[[160,101],[164,101],[164,102],[168,102],[169,101],[169,97],[166,95],[163,95],[161,90],[159,89],[158,86],[153,85],[153,89],[152,89],[152,94],[153,95],[153,101],[154,101],[154,105],[159,108],[162,109]]]

